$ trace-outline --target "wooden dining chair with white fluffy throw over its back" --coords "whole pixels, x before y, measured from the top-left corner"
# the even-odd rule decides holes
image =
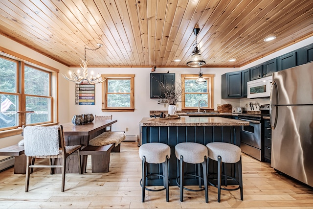
[[[79,174],[81,174],[81,160],[79,150],[81,145],[65,145],[63,127],[60,126],[23,126],[24,152],[26,155],[25,192],[28,191],[31,169],[34,167],[62,168],[62,188],[64,191],[67,157],[72,153],[78,154]],[[49,159],[49,165],[35,164],[34,159]],[[55,159],[62,158],[62,165],[54,165]]]

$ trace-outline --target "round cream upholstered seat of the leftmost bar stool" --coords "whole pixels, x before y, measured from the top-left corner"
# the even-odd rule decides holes
[[[139,157],[145,156],[147,163],[164,163],[166,156],[171,157],[171,148],[163,143],[146,143],[139,147]]]

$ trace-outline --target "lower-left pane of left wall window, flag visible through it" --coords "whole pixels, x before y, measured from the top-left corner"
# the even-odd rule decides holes
[[[0,94],[0,128],[17,126],[18,96]]]

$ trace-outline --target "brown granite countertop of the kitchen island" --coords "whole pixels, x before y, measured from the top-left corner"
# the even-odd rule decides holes
[[[139,126],[242,126],[248,121],[224,117],[180,117],[179,119],[144,117]]]

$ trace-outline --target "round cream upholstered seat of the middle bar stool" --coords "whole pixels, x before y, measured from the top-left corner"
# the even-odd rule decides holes
[[[202,163],[204,157],[207,157],[207,148],[203,144],[183,142],[175,146],[175,155],[177,159],[182,156],[186,163]]]

